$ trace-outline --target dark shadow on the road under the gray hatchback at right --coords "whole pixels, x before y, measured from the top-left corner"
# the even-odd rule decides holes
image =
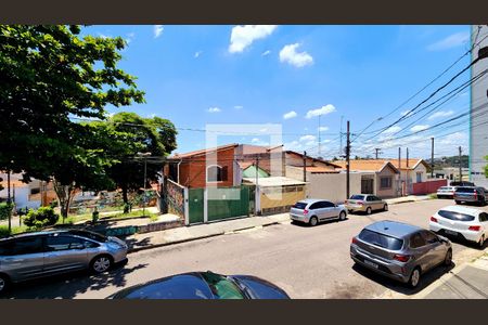
[[[400,282],[397,282],[395,280],[391,280],[386,276],[382,276],[362,265],[354,264],[352,270],[358,272],[364,277],[368,277],[371,281],[376,282],[377,284],[387,287],[390,290],[397,291],[399,294],[403,295],[415,295],[426,287],[428,287],[431,284],[439,280],[444,274],[450,272],[455,266],[455,263],[451,263],[449,266],[439,265],[437,268],[432,269],[431,271],[423,273],[421,276],[421,282],[419,286],[414,289],[410,288],[407,284],[402,284]]]

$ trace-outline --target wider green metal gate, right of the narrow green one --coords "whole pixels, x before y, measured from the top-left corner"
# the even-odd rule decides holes
[[[208,221],[249,216],[249,187],[209,187],[207,191],[210,198],[207,200]]]

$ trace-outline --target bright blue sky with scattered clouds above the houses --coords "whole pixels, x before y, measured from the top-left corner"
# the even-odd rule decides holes
[[[137,76],[139,88],[146,92],[145,104],[110,107],[110,112],[156,115],[183,129],[226,123],[239,130],[242,125],[278,123],[286,148],[308,150],[312,155],[319,154],[317,115],[322,113],[320,154],[330,158],[339,153],[342,118],[344,130],[349,119],[351,131],[359,133],[391,112],[468,50],[471,28],[129,25],[90,26],[84,32],[124,37],[128,47],[120,67]],[[465,56],[408,105],[367,131],[401,117],[468,62]],[[464,74],[453,87],[468,77]],[[381,147],[383,156],[395,157],[402,145],[409,146],[410,156],[429,157],[431,135],[439,136],[436,155],[455,154],[458,145],[467,145],[467,121],[464,130],[445,136],[446,129],[402,141],[388,134],[407,135],[466,112],[468,100],[466,91],[413,126],[408,127],[408,120],[397,126],[401,129],[369,141],[363,134],[352,144],[352,155],[373,155],[373,148]],[[270,138],[219,135],[219,144],[231,142],[266,145]],[[204,132],[179,130],[176,152],[205,146]]]

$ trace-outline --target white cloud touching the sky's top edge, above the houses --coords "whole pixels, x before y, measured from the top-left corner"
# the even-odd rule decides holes
[[[271,35],[274,29],[277,29],[277,25],[235,26],[232,28],[229,52],[241,53],[255,40],[262,39]]]

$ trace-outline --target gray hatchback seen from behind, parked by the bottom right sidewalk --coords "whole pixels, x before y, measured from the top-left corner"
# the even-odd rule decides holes
[[[451,264],[452,248],[449,239],[422,227],[378,221],[352,237],[350,257],[376,273],[416,287],[423,273]]]

